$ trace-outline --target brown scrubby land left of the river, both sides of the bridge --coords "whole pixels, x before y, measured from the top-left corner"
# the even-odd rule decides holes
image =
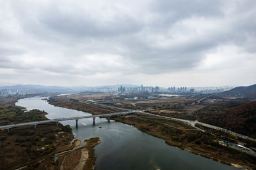
[[[0,98],[0,125],[47,120],[45,111],[25,111],[24,108],[15,106],[18,99]],[[71,143],[72,139],[74,135],[69,125],[55,123],[36,125],[36,128],[17,127],[10,129],[9,132],[0,129],[0,169],[65,169],[61,167],[61,157],[56,162],[54,157],[79,145],[79,141]],[[72,150],[74,153],[83,152],[76,155],[76,160],[72,159],[72,165],[78,161],[77,165],[84,164],[84,168],[93,169],[94,146],[98,143],[99,138],[88,139],[79,150]]]

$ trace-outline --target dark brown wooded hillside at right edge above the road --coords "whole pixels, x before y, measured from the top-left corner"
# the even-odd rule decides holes
[[[256,101],[219,103],[196,112],[200,122],[256,138]]]

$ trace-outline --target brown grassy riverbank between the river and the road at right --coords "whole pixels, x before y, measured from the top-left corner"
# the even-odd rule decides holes
[[[76,106],[73,108],[72,105],[75,102]],[[83,106],[86,105],[86,103],[79,103],[77,101],[69,102],[68,100],[63,101],[63,103],[59,105],[59,103],[61,103],[59,97],[54,97],[54,103],[51,103],[51,100],[49,103],[54,106],[61,106],[65,103],[66,108],[67,106],[74,110],[79,110],[77,108],[81,108],[79,111],[83,111]],[[86,106],[86,108],[88,108],[88,106]],[[91,111],[87,111],[93,113],[96,109],[97,108],[93,108]],[[226,146],[221,146],[216,140],[216,137],[211,134],[194,131],[194,129],[193,131],[189,131],[191,127],[180,122],[145,118],[140,117],[140,115],[116,117],[113,119],[125,124],[133,125],[140,131],[147,132],[152,136],[162,138],[168,145],[177,146],[180,149],[188,150],[189,152],[203,155],[204,157],[209,157],[225,164],[236,164],[237,166],[247,169],[255,167],[256,164],[255,157]]]

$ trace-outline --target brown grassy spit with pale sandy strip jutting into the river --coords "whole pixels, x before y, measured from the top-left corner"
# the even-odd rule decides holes
[[[96,161],[94,148],[100,142],[99,138],[86,139],[80,148],[61,153],[58,155],[58,169],[93,169]]]

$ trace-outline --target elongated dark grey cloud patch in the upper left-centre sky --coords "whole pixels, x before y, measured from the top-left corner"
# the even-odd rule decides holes
[[[109,36],[119,36],[120,34],[131,34],[140,31],[140,24],[129,18],[120,15],[114,20],[97,24],[90,15],[70,16],[61,11],[54,11],[40,19],[40,23],[56,32],[76,36],[77,38],[93,37],[104,38]]]

